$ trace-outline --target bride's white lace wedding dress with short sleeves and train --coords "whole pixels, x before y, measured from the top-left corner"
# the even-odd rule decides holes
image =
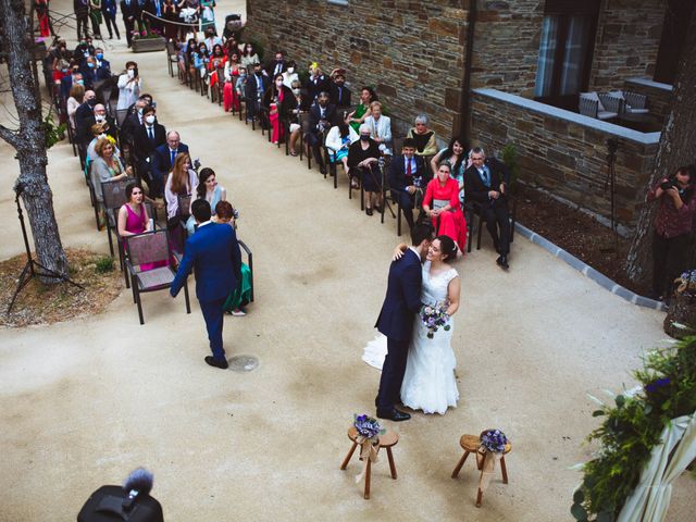
[[[457,277],[452,268],[431,276],[431,263],[423,264],[423,285],[421,301],[424,304],[435,304],[447,300],[449,282]],[[449,320],[450,330],[442,327],[435,332],[433,338],[427,337],[427,328],[417,316],[413,321],[413,337],[409,346],[406,362],[406,373],[401,384],[401,401],[403,406],[425,413],[444,414],[449,407],[457,407],[459,391],[455,378],[457,359],[451,348],[453,320]],[[382,369],[387,352],[384,335],[368,344],[363,350],[362,360],[368,364]]]

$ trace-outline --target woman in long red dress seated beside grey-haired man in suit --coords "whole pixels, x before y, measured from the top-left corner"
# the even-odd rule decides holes
[[[467,220],[459,203],[459,184],[449,175],[449,163],[440,163],[437,175],[425,189],[423,211],[433,220],[437,234],[449,236],[463,252],[467,247]]]

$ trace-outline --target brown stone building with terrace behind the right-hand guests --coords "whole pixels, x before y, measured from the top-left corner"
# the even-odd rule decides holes
[[[373,86],[397,134],[418,113],[443,141],[513,142],[520,179],[609,215],[607,140],[618,139],[617,216],[637,219],[691,0],[254,0],[246,38],[301,66]],[[577,113],[584,91],[648,96],[636,125]],[[399,132],[400,130],[400,132]]]

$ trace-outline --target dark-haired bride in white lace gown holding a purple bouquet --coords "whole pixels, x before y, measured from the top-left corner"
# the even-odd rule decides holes
[[[396,256],[402,253],[397,247]],[[451,348],[453,321],[451,316],[459,309],[460,279],[457,271],[448,264],[457,256],[457,245],[448,236],[437,236],[427,250],[423,264],[423,285],[421,301],[424,304],[445,303],[450,316],[446,331],[439,327],[427,336],[428,330],[417,315],[413,336],[409,346],[406,373],[401,384],[403,406],[425,413],[444,414],[449,407],[456,407],[459,400],[455,368],[457,360]],[[381,336],[370,343],[364,350],[363,360],[382,368],[386,353],[386,337]]]

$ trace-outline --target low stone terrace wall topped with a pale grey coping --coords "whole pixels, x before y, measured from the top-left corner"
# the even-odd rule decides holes
[[[619,139],[617,217],[630,228],[635,226],[659,141],[659,133],[637,133],[494,89],[472,94],[472,136],[474,145],[493,151],[513,142],[523,183],[605,217],[610,216],[606,142]]]

